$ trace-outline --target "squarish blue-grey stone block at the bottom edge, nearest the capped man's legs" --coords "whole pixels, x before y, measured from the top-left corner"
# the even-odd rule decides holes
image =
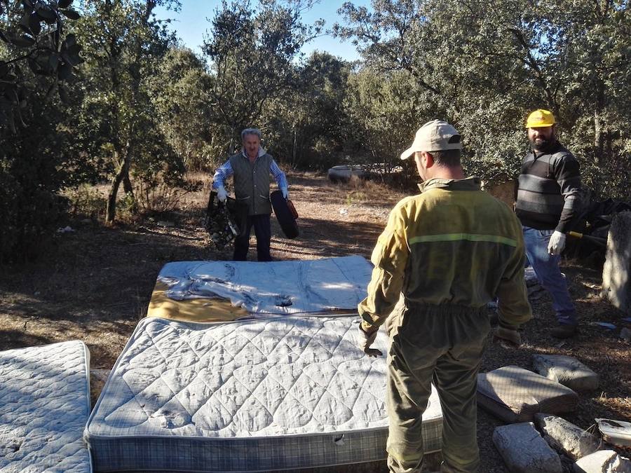
[[[493,443],[511,473],[563,472],[559,455],[531,422],[496,427]]]

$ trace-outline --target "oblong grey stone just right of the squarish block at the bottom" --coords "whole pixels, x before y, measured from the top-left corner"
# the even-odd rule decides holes
[[[548,445],[572,460],[594,453],[602,443],[595,435],[561,417],[535,414],[535,423]]]

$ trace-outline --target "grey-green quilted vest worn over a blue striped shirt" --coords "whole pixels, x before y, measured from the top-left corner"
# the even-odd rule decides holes
[[[269,165],[273,158],[265,153],[254,163],[243,153],[230,156],[234,172],[234,195],[238,203],[247,204],[248,215],[271,214],[269,202]]]

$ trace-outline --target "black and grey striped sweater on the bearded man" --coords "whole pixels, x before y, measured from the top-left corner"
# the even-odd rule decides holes
[[[527,154],[522,163],[515,212],[522,225],[566,233],[581,210],[578,161],[558,142]]]

